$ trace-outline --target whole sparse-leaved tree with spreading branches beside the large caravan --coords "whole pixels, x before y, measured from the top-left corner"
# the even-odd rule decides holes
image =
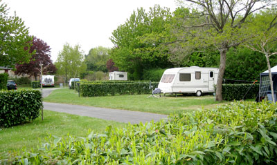
[[[220,52],[220,72],[216,100],[222,101],[222,80],[226,68],[226,53],[247,39],[247,19],[254,12],[276,3],[275,0],[180,0],[193,5],[183,20],[181,38],[188,48],[214,46]]]

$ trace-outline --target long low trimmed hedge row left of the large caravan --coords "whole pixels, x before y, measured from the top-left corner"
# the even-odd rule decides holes
[[[159,83],[152,83],[157,88]],[[133,95],[151,93],[148,82],[133,83],[90,83],[80,84],[80,93],[83,97],[95,97],[105,95]]]

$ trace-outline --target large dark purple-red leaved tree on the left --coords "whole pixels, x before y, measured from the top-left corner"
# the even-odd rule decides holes
[[[15,70],[16,75],[29,75],[30,77],[35,77],[40,75],[39,64],[44,67],[43,74],[53,74],[57,70],[51,60],[51,48],[42,39],[33,38],[33,46],[30,47],[30,53],[35,52],[35,54],[30,58],[28,63],[17,64]]]

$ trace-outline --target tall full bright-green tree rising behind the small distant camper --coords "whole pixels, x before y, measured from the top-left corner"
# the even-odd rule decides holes
[[[133,79],[141,79],[143,69],[170,66],[168,53],[156,38],[166,32],[171,13],[168,8],[154,6],[149,12],[143,8],[134,11],[129,19],[112,33],[111,59],[119,70]]]

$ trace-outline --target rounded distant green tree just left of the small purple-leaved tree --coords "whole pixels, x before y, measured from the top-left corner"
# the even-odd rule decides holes
[[[109,48],[98,46],[91,48],[89,54],[85,56],[87,70],[107,72],[106,64],[109,60]]]

